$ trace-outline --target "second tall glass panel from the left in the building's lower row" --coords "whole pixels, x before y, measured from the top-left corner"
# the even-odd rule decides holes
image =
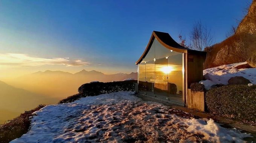
[[[155,62],[146,62],[146,89],[147,91],[154,91],[155,82]]]

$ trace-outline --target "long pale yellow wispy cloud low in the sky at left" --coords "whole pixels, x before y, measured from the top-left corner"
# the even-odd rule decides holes
[[[26,54],[5,53],[0,54],[0,66],[44,66],[44,65],[64,65],[88,66],[90,63],[82,60],[70,60],[70,58],[38,58]]]

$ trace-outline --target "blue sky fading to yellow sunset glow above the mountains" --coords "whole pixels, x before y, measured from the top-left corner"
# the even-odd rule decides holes
[[[246,7],[244,0],[1,0],[0,79],[45,70],[137,72],[153,30],[189,39],[201,20],[221,42]]]

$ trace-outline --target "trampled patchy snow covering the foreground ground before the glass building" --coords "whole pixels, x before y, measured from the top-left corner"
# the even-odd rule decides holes
[[[35,142],[243,142],[250,135],[222,128],[212,119],[160,103],[145,102],[133,92],[85,97],[49,105],[33,113],[31,129],[11,143]]]

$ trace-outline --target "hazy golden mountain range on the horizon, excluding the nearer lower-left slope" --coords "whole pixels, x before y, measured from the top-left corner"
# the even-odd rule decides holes
[[[77,87],[91,81],[112,82],[133,78],[137,80],[137,73],[104,74],[95,70],[82,70],[77,73],[62,71],[36,72],[8,81],[10,85],[23,88],[38,94],[53,98],[66,98],[77,93]]]

